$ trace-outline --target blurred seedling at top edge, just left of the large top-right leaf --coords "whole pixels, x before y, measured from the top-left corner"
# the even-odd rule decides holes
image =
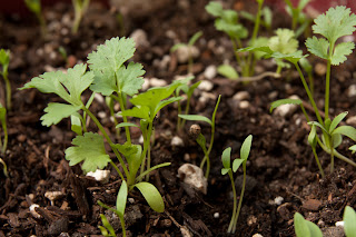
[[[294,7],[290,0],[285,0],[286,11],[291,16],[291,30],[296,31],[296,37],[299,37],[310,24],[310,20],[303,12],[310,0],[299,0],[298,4]],[[300,24],[298,27],[298,24]]]

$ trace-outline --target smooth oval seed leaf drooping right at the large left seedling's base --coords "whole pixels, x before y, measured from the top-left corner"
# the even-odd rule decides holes
[[[165,211],[164,199],[154,185],[146,181],[141,181],[136,184],[134,187],[137,187],[140,190],[140,192],[147,200],[148,205],[152,208],[152,210],[157,213]]]

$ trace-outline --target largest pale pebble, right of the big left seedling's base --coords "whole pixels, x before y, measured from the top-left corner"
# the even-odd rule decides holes
[[[207,194],[208,181],[198,166],[184,164],[178,169],[178,177],[194,189]]]

